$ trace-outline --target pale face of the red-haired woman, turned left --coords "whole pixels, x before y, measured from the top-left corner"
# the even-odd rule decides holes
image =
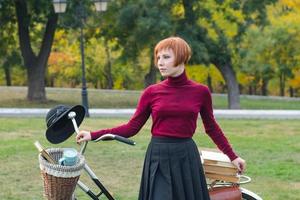
[[[176,77],[184,71],[184,65],[174,66],[175,54],[172,49],[162,49],[157,53],[157,67],[162,76]]]

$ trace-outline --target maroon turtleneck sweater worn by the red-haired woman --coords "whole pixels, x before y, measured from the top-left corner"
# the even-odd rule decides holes
[[[209,89],[189,80],[185,72],[146,88],[127,124],[92,131],[91,137],[94,140],[107,133],[131,137],[139,132],[151,115],[153,136],[191,138],[197,127],[198,113],[205,132],[218,148],[231,160],[237,158],[215,121]]]

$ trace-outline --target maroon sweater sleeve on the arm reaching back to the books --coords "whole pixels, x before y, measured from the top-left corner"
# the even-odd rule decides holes
[[[205,99],[204,104],[202,105],[200,115],[202,118],[202,122],[205,128],[205,132],[209,135],[209,137],[213,140],[213,142],[218,146],[218,148],[226,154],[230,160],[234,160],[237,158],[237,155],[234,153],[231,145],[229,144],[227,138],[222,132],[221,128],[217,124],[212,107],[212,98],[209,89],[206,87],[204,91]]]

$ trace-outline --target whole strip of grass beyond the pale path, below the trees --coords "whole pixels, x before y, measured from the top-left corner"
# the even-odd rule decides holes
[[[134,108],[141,91],[88,90],[90,108]],[[0,107],[51,108],[57,104],[81,104],[81,89],[47,88],[47,102],[28,102],[26,87],[0,87]],[[227,108],[226,95],[213,95],[216,109]],[[241,96],[242,109],[300,110],[300,99],[251,98]]]

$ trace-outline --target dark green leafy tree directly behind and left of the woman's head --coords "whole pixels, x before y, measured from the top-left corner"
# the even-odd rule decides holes
[[[174,33],[170,22],[169,1],[131,0],[111,2],[101,29],[107,40],[116,40],[116,49],[122,51],[120,60],[140,68],[139,56],[148,50],[149,68],[144,77],[145,87],[156,82],[153,62],[155,43]]]

